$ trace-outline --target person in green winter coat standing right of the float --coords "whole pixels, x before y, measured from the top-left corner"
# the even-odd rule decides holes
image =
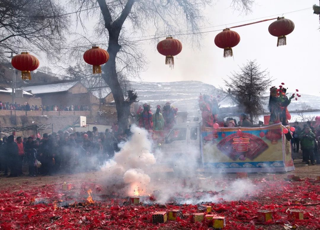
[[[314,159],[314,147],[315,147],[315,138],[316,135],[310,130],[309,126],[306,126],[304,131],[300,133],[299,139],[302,148],[302,157],[303,161],[309,164],[309,158],[311,164],[315,165]]]

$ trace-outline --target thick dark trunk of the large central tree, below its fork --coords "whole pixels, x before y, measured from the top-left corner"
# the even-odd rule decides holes
[[[118,75],[116,71],[116,55],[120,50],[120,45],[109,41],[108,53],[109,60],[103,67],[102,78],[110,87],[110,90],[115,99],[117,119],[119,127],[123,130],[128,128],[128,117],[130,115],[130,103],[124,101],[123,91],[118,81]]]

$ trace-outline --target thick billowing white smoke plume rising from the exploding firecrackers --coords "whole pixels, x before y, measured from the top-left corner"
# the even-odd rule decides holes
[[[156,163],[156,159],[151,153],[152,143],[148,140],[148,131],[132,126],[131,132],[131,139],[101,168],[105,175],[100,183],[105,185],[108,193],[115,192],[124,196],[144,194],[150,183],[147,172]]]

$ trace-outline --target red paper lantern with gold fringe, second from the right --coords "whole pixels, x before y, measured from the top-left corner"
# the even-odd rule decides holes
[[[214,38],[214,44],[219,48],[224,49],[224,58],[233,56],[232,47],[235,47],[239,42],[239,34],[229,28],[224,29]]]

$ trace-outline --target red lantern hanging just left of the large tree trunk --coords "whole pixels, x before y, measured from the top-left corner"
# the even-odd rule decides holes
[[[92,46],[90,50],[84,52],[83,59],[86,63],[93,65],[93,74],[101,74],[101,65],[108,61],[109,53],[99,46]]]

